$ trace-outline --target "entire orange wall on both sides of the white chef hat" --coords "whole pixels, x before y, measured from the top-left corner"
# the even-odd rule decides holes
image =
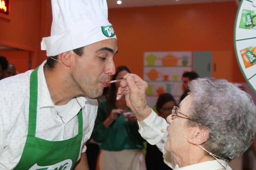
[[[0,45],[32,51],[35,68],[47,58],[40,42],[50,35],[51,1],[12,0],[10,7],[7,19],[0,15]],[[236,11],[235,2],[109,9],[118,38],[116,66],[125,64],[143,76],[145,51],[229,51],[232,63],[223,71],[232,72],[230,81],[244,82],[233,52]],[[221,57],[213,59],[217,66]]]

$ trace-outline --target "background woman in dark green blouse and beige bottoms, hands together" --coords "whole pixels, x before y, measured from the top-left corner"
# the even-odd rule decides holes
[[[119,66],[113,80],[130,73],[126,66]],[[100,170],[145,170],[142,154],[144,139],[138,132],[137,119],[130,114],[125,98],[116,100],[119,82],[111,83],[107,100],[99,104],[92,137],[100,142]]]

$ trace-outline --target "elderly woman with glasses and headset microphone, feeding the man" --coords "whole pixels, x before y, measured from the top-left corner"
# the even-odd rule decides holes
[[[146,105],[147,83],[135,74],[124,79],[117,99],[125,95],[140,134],[158,146],[165,163],[175,170],[230,170],[227,162],[246,151],[255,138],[256,107],[247,93],[226,80],[191,81],[190,94],[166,122]]]

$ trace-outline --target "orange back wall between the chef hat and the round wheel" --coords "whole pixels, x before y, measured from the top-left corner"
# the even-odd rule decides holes
[[[232,64],[224,73],[232,72],[229,81],[245,82],[233,52],[237,8],[235,2],[224,2],[109,9],[118,39],[116,66],[125,64],[143,76],[145,51],[229,51]],[[221,57],[214,60],[217,66]]]

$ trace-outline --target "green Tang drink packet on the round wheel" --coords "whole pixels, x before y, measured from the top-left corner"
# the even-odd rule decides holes
[[[252,10],[244,9],[242,12],[239,28],[256,29],[256,13]]]

